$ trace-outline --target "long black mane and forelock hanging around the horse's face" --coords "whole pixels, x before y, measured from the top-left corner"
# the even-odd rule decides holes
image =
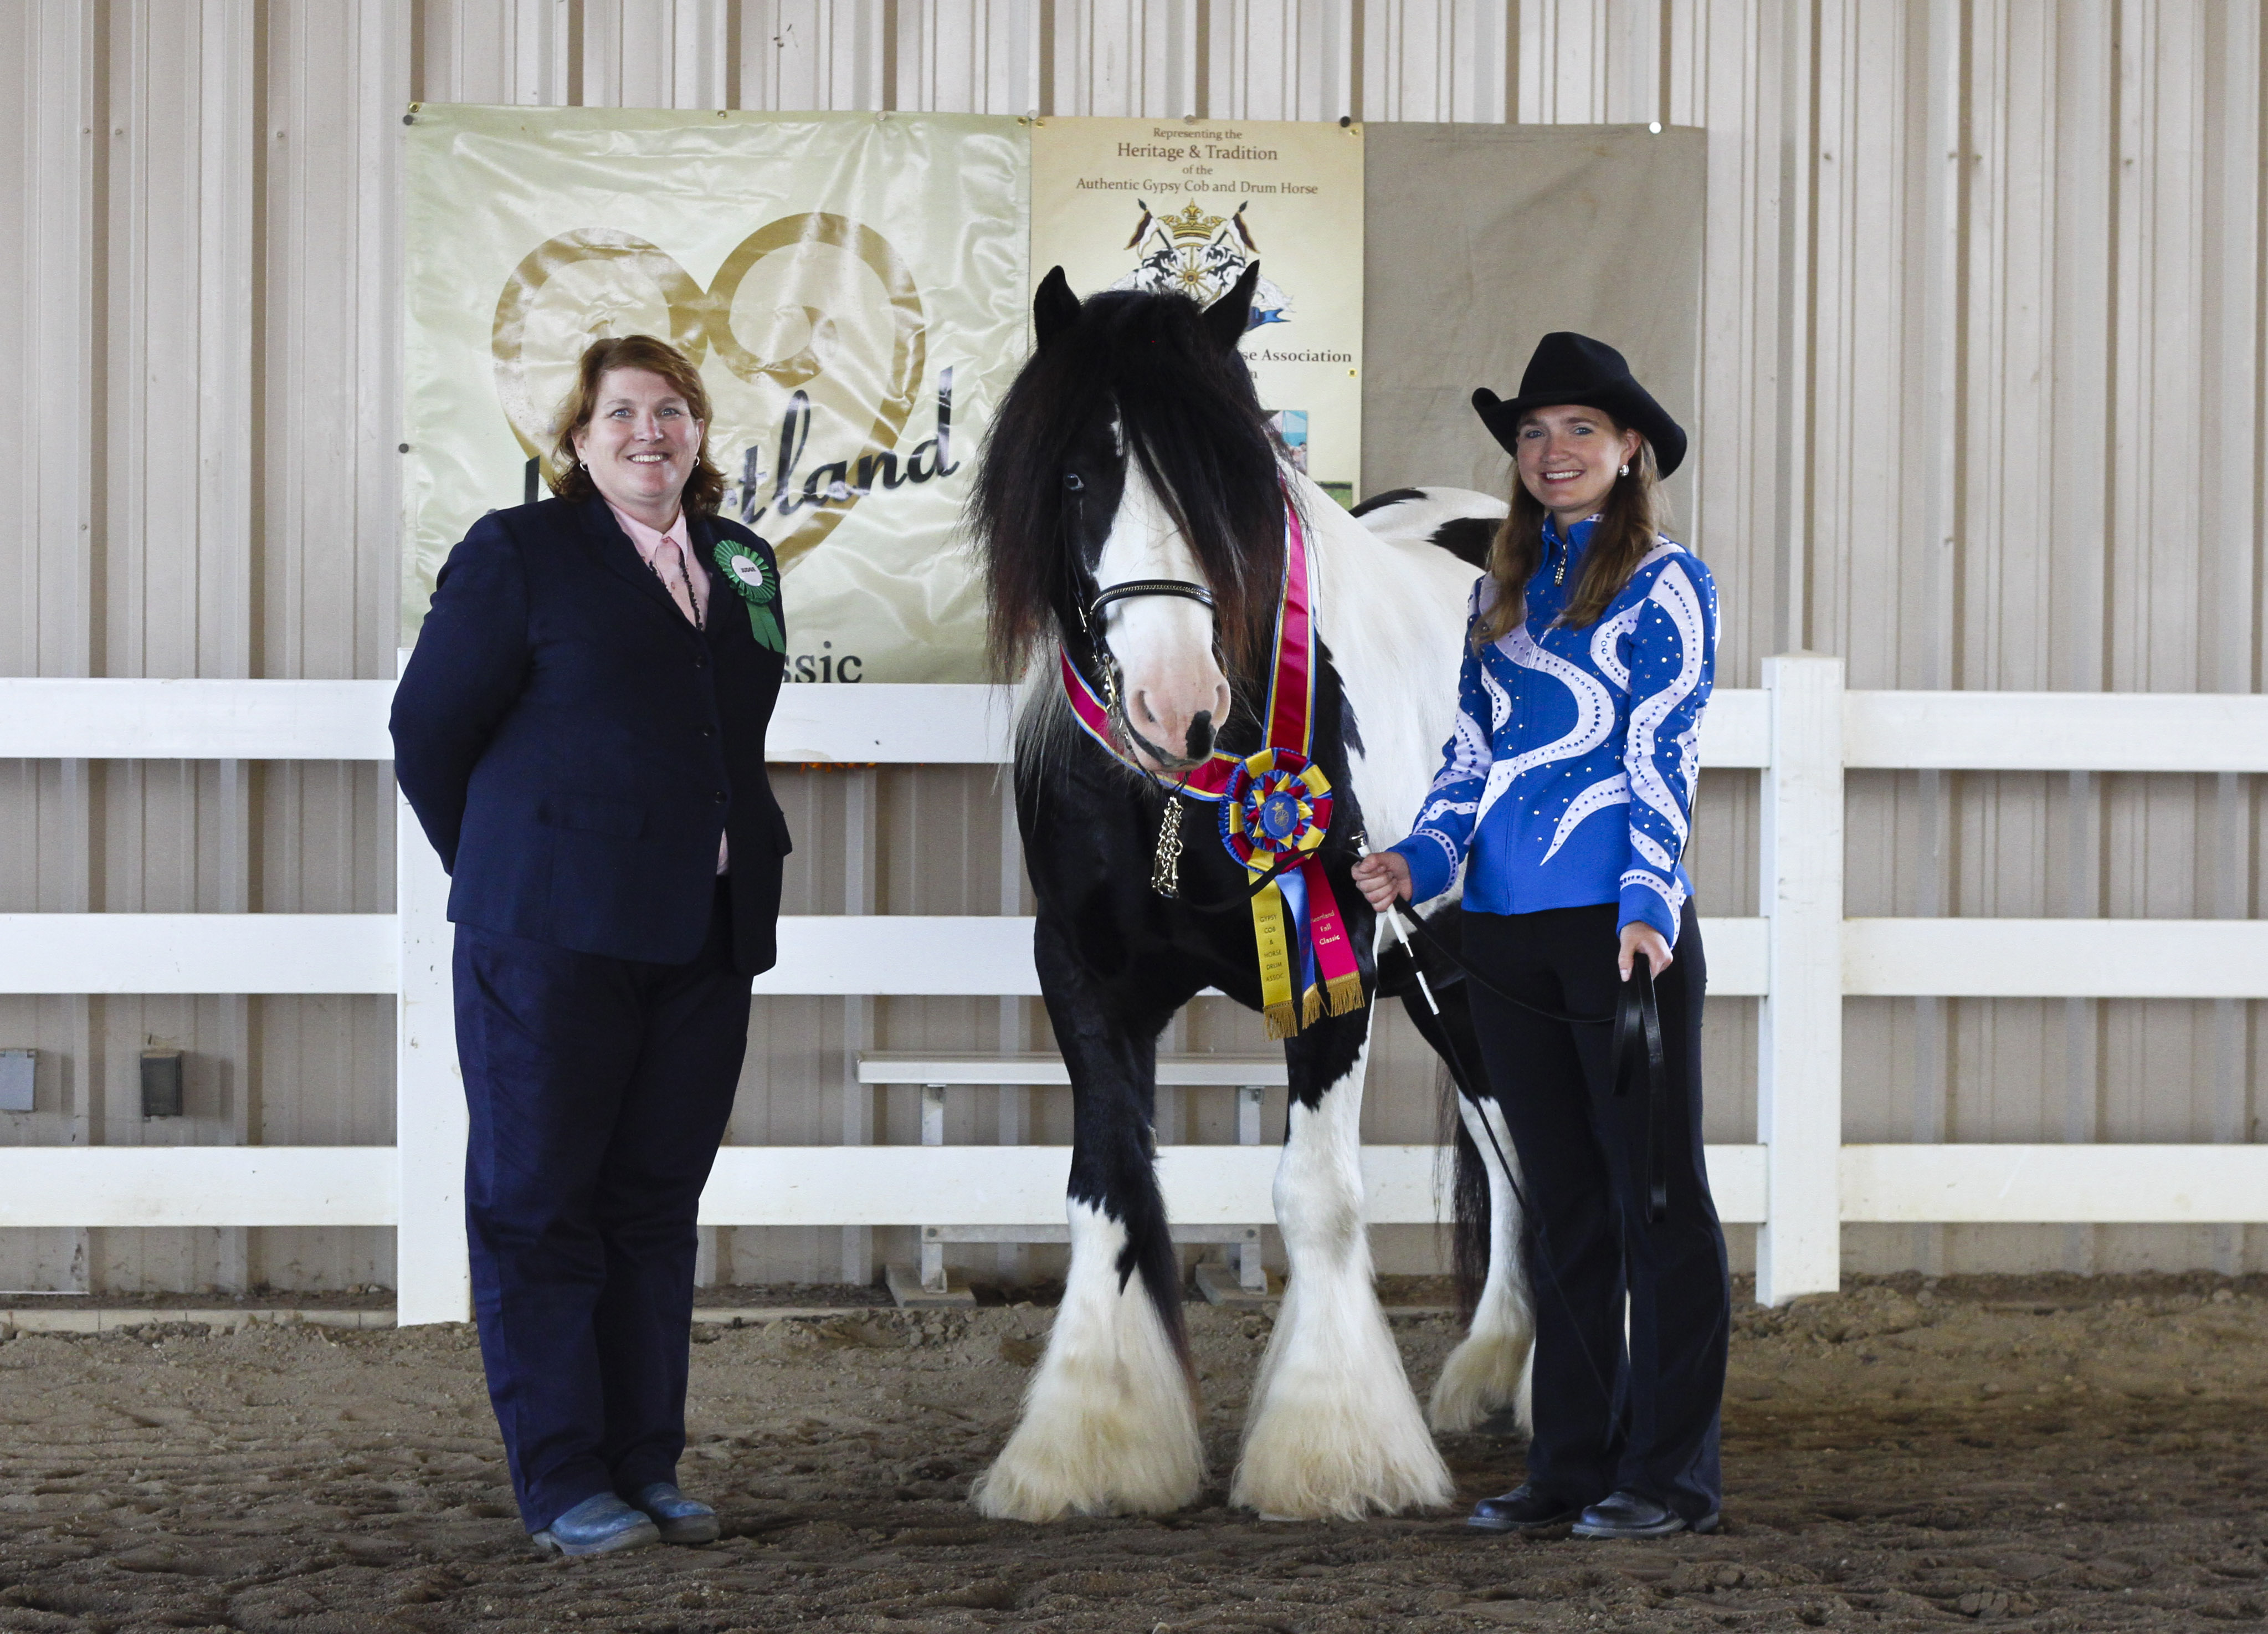
[[[1116,411],[1220,606],[1220,647],[1250,672],[1284,572],[1277,449],[1243,359],[1182,295],[1107,290],[1016,374],[978,463],[971,515],[991,606],[991,654],[1023,669],[1057,633],[1068,567],[1064,468]]]

